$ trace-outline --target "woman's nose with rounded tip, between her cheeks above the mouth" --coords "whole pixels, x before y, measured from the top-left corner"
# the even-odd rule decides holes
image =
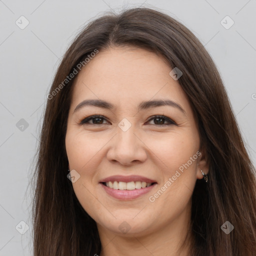
[[[146,160],[146,145],[132,127],[126,131],[117,127],[117,134],[110,140],[107,152],[109,161],[130,166]]]

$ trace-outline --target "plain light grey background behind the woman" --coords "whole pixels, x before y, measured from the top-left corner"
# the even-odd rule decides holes
[[[1,256],[32,255],[32,160],[47,91],[61,56],[89,20],[110,8],[119,11],[128,6],[157,7],[186,25],[205,45],[255,165],[256,0],[0,0]],[[24,29],[21,15],[29,21]],[[229,29],[221,24],[226,15],[234,21]],[[229,25],[230,20],[225,20]],[[29,227],[23,234],[25,224],[20,221]]]

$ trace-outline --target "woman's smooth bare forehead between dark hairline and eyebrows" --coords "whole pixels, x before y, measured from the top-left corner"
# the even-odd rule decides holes
[[[123,108],[142,100],[170,99],[190,108],[187,96],[160,55],[142,48],[114,47],[99,51],[81,69],[73,88],[71,108],[88,98]]]

